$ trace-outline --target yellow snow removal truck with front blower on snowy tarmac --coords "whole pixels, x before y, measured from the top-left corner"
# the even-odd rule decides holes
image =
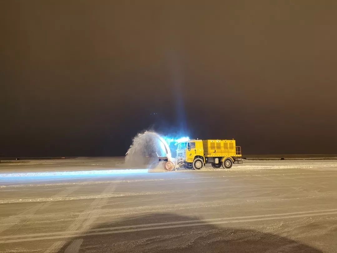
[[[229,169],[233,163],[242,163],[241,147],[235,145],[235,140],[195,140],[178,144],[177,157],[170,161],[160,157],[159,161],[167,161],[165,169],[173,170],[183,166],[185,169],[200,170],[206,163],[213,168]]]

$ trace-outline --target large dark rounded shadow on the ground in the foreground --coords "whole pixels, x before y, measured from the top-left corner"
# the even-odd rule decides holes
[[[197,221],[178,224],[166,223],[190,220]],[[202,221],[197,217],[176,214],[130,217],[117,222],[100,224],[92,229],[153,223],[166,224],[115,230],[88,230],[86,233],[112,231],[117,233],[74,237],[69,239],[69,242],[59,252],[77,252],[78,247],[78,252],[322,252],[286,237],[253,229],[232,228],[230,224],[184,227],[185,224],[202,223]],[[181,227],[169,227],[174,225]],[[141,230],[159,226],[165,228]],[[122,230],[129,231],[121,232]]]

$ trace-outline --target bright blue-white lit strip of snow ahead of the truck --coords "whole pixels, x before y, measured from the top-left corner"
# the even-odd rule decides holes
[[[0,178],[9,177],[67,177],[67,176],[114,176],[125,174],[148,173],[148,169],[125,169],[125,170],[83,170],[83,171],[49,171],[49,172],[20,172],[2,173]]]

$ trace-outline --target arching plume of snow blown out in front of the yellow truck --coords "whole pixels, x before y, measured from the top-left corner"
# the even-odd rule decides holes
[[[125,163],[129,166],[156,166],[158,156],[172,160],[167,142],[159,134],[151,131],[137,134],[126,152]]]

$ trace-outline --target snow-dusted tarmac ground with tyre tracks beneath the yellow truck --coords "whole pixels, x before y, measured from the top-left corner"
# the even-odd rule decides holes
[[[337,252],[336,160],[128,169],[1,162],[0,252]]]

